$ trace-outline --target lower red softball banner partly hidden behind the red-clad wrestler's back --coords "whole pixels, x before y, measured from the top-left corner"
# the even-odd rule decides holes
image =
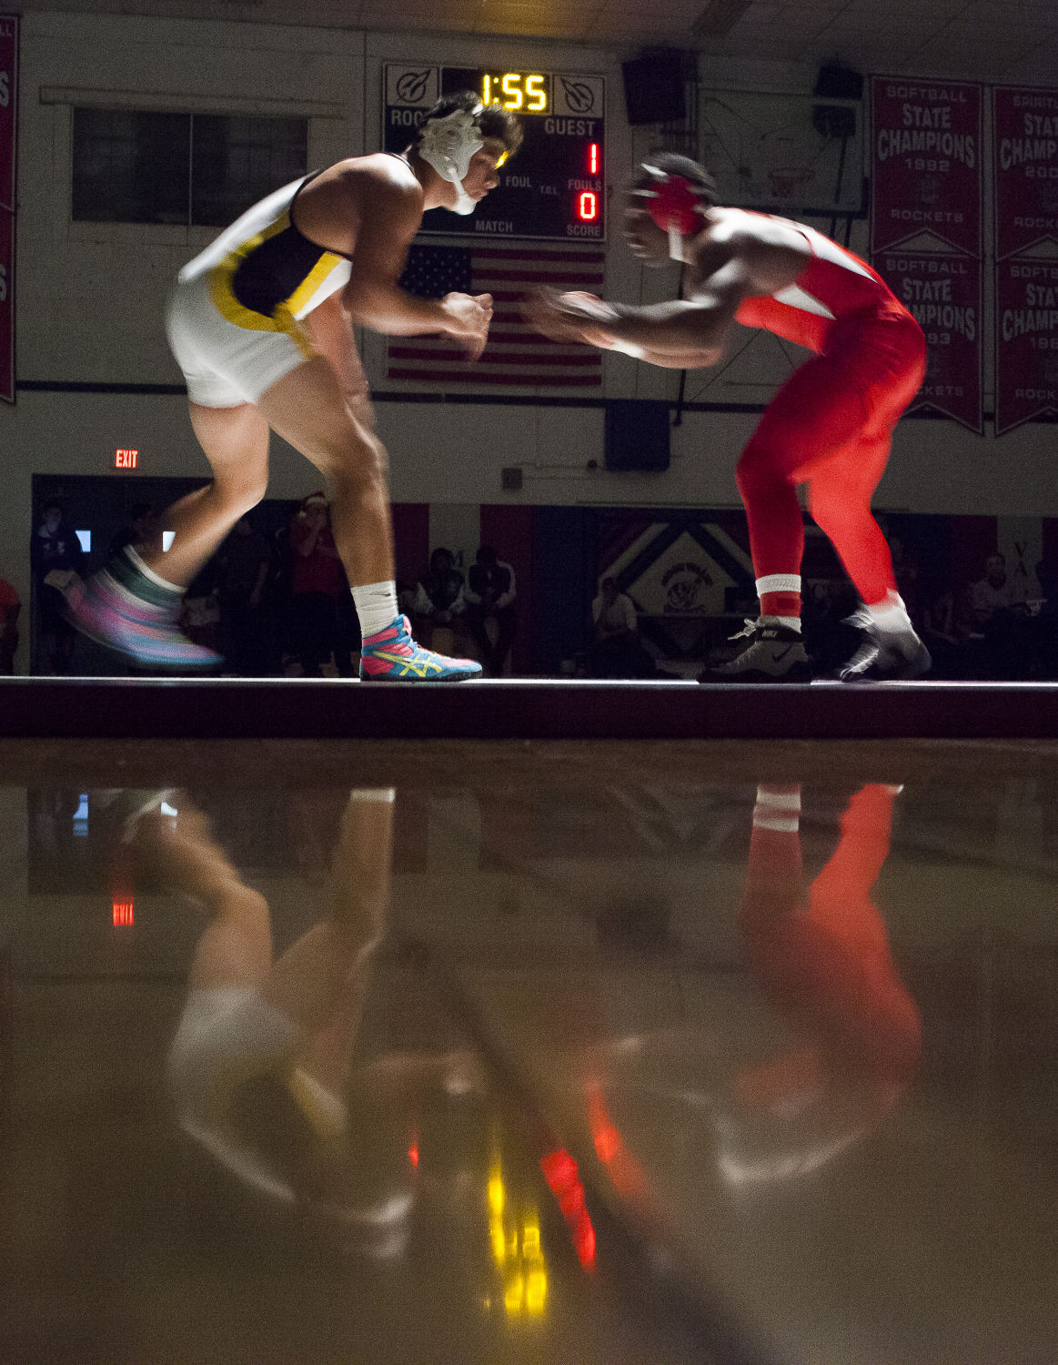
[[[926,333],[926,378],[908,411],[932,408],[980,435],[984,431],[980,261],[954,253],[894,247],[875,255],[874,268]]]

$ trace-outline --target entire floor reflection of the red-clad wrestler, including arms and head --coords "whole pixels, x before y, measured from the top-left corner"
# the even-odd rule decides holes
[[[724,1185],[762,1186],[825,1166],[900,1100],[921,1025],[871,902],[894,792],[871,785],[852,797],[838,848],[805,893],[800,790],[758,789],[739,930],[771,1010],[718,980],[696,1001],[698,1026],[612,1041],[584,1076],[595,1152],[633,1205],[665,1168],[647,1181],[640,1162],[673,1133],[684,1160],[703,1144]]]

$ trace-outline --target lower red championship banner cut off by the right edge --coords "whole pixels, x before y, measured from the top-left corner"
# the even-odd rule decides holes
[[[995,263],[995,434],[1058,414],[1058,259]]]

